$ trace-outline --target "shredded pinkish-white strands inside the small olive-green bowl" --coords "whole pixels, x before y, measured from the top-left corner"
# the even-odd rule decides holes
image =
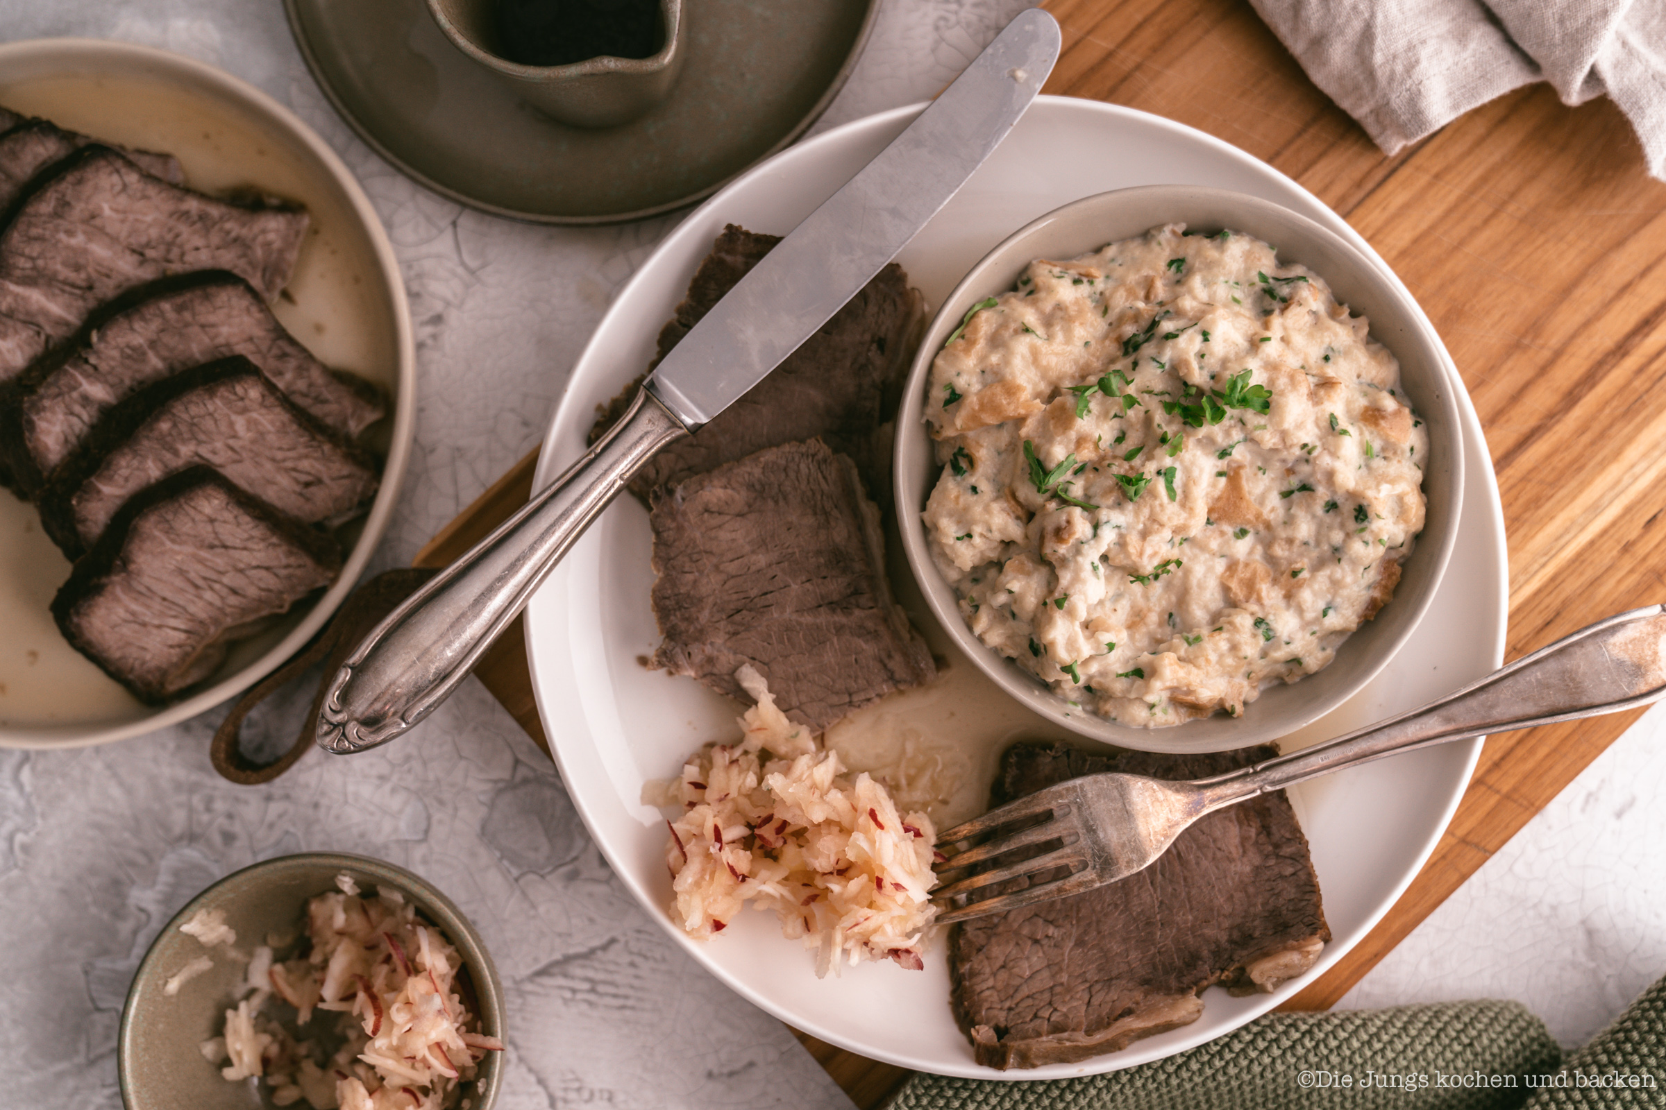
[[[203,1043],[210,1060],[230,1058],[228,1080],[262,1075],[272,1102],[305,1098],[317,1110],[441,1110],[458,1100],[458,1083],[503,1043],[468,1032],[471,1015],[453,990],[461,959],[443,934],[416,917],[395,890],[360,895],[348,875],[342,894],[307,904],[312,950],[273,962],[255,949],[247,989],[253,994],[227,1010],[225,1037]],[[338,1012],[347,1035],[320,1067],[322,1052],[297,1042],[260,1012],[268,994],[295,1007],[308,1025],[318,1010]],[[320,1030],[323,1032],[323,1030]]]

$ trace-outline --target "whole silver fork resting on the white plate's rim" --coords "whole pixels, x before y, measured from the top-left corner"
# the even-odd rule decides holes
[[[1421,709],[1299,752],[1193,782],[1093,774],[1046,787],[955,825],[938,839],[946,857],[931,900],[938,924],[1061,899],[1148,867],[1186,825],[1256,794],[1399,752],[1594,717],[1666,694],[1666,606],[1633,609],[1494,671]],[[1013,857],[1003,862],[1003,857]],[[955,877],[973,865],[985,870]],[[978,897],[1028,879],[1008,894]]]

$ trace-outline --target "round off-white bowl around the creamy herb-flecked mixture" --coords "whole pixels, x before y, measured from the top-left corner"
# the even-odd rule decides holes
[[[1185,225],[1186,235],[1231,230],[1263,240],[1278,251],[1279,266],[1304,266],[1308,273],[1329,285],[1336,301],[1346,305],[1354,316],[1363,315],[1369,321],[1371,338],[1386,346],[1399,363],[1404,401],[1419,419],[1419,428],[1426,426],[1426,459],[1419,461],[1426,516],[1401,564],[1393,597],[1381,606],[1374,619],[1366,619],[1358,631],[1341,639],[1328,666],[1294,682],[1263,684],[1259,696],[1251,694],[1236,716],[1215,712],[1168,727],[1135,727],[1098,716],[1090,709],[1088,697],[1076,701],[1060,696],[1036,674],[1021,669],[1011,657],[998,654],[980,641],[970,627],[971,602],[956,594],[935,562],[935,541],[923,519],[928,499],[940,476],[946,473],[948,461],[938,458],[943,451],[926,426],[926,406],[941,403],[943,398],[928,399],[926,393],[933,361],[945,344],[960,334],[956,330],[971,318],[975,308],[993,305],[990,298],[1015,290],[1030,263],[1075,260],[1108,243],[1143,236],[1163,225]],[[1113,361],[1133,346],[1125,343],[1118,351],[1116,336],[1111,339]],[[1126,358],[1120,361],[1128,363]],[[1135,363],[1138,364],[1138,359]],[[928,328],[910,371],[896,424],[896,513],[903,546],[933,614],[968,657],[1008,694],[1060,726],[1105,744],[1160,752],[1226,751],[1274,741],[1311,724],[1364,687],[1404,644],[1428,609],[1456,541],[1463,499],[1456,401],[1459,389],[1461,384],[1446,369],[1439,338],[1416,301],[1358,250],[1311,220],[1264,200],[1215,188],[1143,186],[1100,193],[1035,220],[991,250],[943,301]],[[1115,408],[1118,398],[1113,396],[1110,401]],[[1191,431],[1181,424],[1176,428]],[[1148,454],[1158,451],[1161,448]],[[1121,451],[1115,461],[1120,458]],[[1048,458],[1046,463],[1053,464],[1056,459]],[[1161,474],[1161,469],[1156,473]],[[1170,474],[1173,476],[1173,471]],[[1161,486],[1155,489],[1160,491]],[[1318,498],[1314,501],[1313,511],[1319,511]],[[1349,506],[1343,506],[1344,513],[1348,509]],[[1008,544],[1008,551],[1011,549],[1013,544]],[[1185,554],[1183,548],[1176,551]],[[1106,574],[1116,569],[1111,564]],[[1110,589],[1106,586],[1108,592]],[[1188,637],[1186,642],[1193,641]],[[1035,651],[1036,641],[1031,639],[1030,646]],[[1123,666],[1121,661],[1118,666]],[[1133,667],[1133,662],[1128,666]],[[1143,672],[1140,676],[1143,677]]]

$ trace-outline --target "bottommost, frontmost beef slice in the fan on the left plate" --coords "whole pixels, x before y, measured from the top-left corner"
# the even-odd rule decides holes
[[[77,561],[52,616],[77,651],[162,704],[340,569],[330,536],[197,466],[127,503]]]

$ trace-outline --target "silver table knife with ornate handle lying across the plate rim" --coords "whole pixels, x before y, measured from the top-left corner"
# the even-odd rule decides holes
[[[318,746],[347,754],[387,744],[450,697],[660,448],[763,381],[960,191],[1041,92],[1058,50],[1046,12],[1008,23],[671,348],[600,443],[365,637],[330,679]]]

